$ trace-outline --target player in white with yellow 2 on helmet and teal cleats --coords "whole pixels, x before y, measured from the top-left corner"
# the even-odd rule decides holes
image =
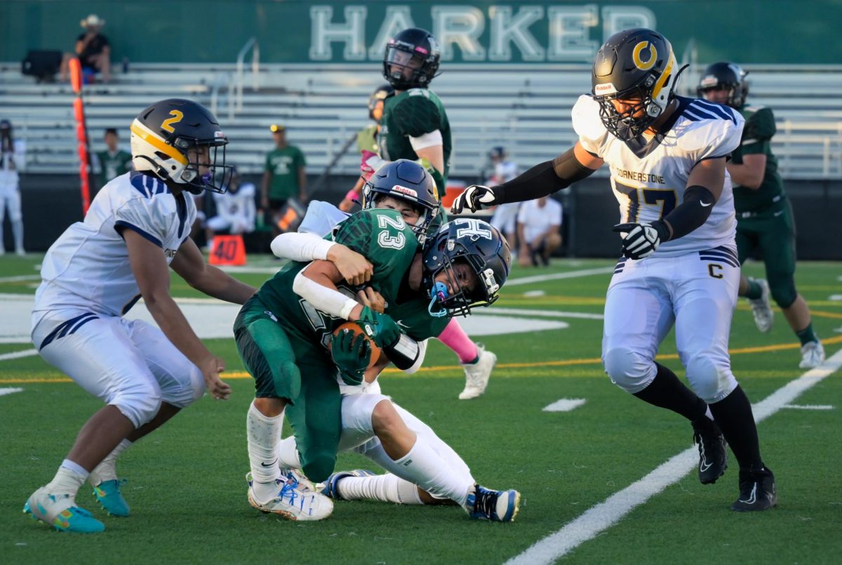
[[[242,304],[255,292],[205,264],[189,238],[196,210],[185,191],[224,190],[227,143],[200,104],[152,104],[131,124],[135,171],[106,184],[84,220],[45,255],[33,343],[44,360],[107,403],[80,430],[56,477],[24,506],[57,530],[104,530],[76,505],[86,480],[109,514],[128,515],[115,473],[120,452],[205,388],[216,399],[231,393],[219,377],[224,362],[205,348],[170,296],[168,270],[224,301]],[[161,329],[122,317],[141,297]]]

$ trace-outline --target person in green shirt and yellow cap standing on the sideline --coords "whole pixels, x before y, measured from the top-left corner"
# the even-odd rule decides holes
[[[306,202],[306,159],[301,149],[286,141],[284,125],[273,124],[275,148],[266,154],[263,182],[260,185],[260,208],[274,215],[287,200]],[[275,223],[274,221],[272,222]]]

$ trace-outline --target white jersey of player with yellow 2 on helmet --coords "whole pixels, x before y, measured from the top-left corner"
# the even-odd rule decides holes
[[[46,312],[83,310],[122,316],[140,299],[121,233],[131,229],[161,248],[169,264],[190,235],[196,207],[166,184],[132,171],[112,179],[53,243],[41,265],[33,327]]]

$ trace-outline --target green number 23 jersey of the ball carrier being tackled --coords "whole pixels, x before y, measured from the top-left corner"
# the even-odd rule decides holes
[[[360,253],[374,265],[367,283],[389,304],[397,304],[398,290],[406,277],[418,240],[412,229],[394,210],[364,210],[340,223],[332,236],[337,243]],[[278,318],[290,334],[327,346],[328,339],[344,320],[318,311],[296,295],[292,282],[307,263],[290,262],[258,290],[258,299]],[[356,290],[340,283],[338,290],[353,298]],[[388,312],[387,312],[388,313]]]

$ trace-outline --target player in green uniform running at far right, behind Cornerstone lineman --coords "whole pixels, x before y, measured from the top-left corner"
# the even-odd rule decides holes
[[[745,118],[743,139],[727,164],[734,184],[737,248],[741,263],[759,249],[768,282],[743,276],[739,296],[749,299],[754,322],[761,332],[772,327],[774,315],[769,296],[775,299],[801,340],[802,360],[798,366],[809,369],[822,364],[824,349],[813,331],[807,301],[795,288],[795,221],[770,147],[775,116],[770,108],[745,104],[749,93],[747,74],[733,63],[714,63],[702,73],[698,88],[700,97],[727,104]]]

